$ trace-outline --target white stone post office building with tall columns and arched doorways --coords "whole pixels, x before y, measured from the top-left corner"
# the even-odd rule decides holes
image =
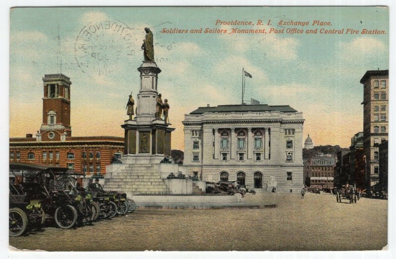
[[[199,107],[185,115],[187,173],[206,181],[239,181],[256,191],[303,187],[302,112],[289,105]]]

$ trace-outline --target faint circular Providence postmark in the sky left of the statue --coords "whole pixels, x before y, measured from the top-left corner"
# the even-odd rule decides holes
[[[119,20],[88,23],[74,44],[77,65],[91,78],[115,74],[137,51],[134,29]]]

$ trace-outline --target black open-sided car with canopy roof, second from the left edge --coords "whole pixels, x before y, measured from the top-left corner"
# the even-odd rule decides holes
[[[90,196],[81,196],[75,176],[83,174],[69,168],[10,163],[10,171],[22,172],[17,177],[20,188],[27,196],[41,201],[46,215],[53,217],[56,225],[69,229],[76,223],[91,223],[96,217],[96,207]],[[28,177],[27,177],[28,176]]]

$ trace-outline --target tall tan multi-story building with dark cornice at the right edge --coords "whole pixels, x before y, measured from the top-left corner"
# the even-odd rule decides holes
[[[369,70],[360,79],[363,84],[363,148],[366,155],[366,187],[379,182],[378,145],[388,140],[389,72]]]

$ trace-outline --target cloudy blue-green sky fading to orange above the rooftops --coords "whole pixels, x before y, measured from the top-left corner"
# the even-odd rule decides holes
[[[216,25],[217,20],[252,21],[254,26]],[[257,26],[258,20],[265,25]],[[312,26],[314,20],[331,25]],[[118,27],[104,29],[107,25]],[[42,77],[52,73],[71,78],[73,136],[122,137],[128,95],[132,92],[137,100],[139,91],[145,27],[153,32],[154,56],[162,70],[158,91],[168,99],[169,120],[176,128],[172,149],[184,148],[184,114],[206,104],[241,103],[243,68],[252,75],[246,79],[245,100],[290,105],[303,114],[304,139],[309,134],[315,146],[349,147],[350,138],[363,129],[361,77],[366,70],[389,69],[385,7],[13,8],[10,137],[39,130]],[[162,33],[164,28],[189,33]],[[190,33],[199,28],[285,33]],[[386,34],[288,34],[287,28],[378,29]]]

